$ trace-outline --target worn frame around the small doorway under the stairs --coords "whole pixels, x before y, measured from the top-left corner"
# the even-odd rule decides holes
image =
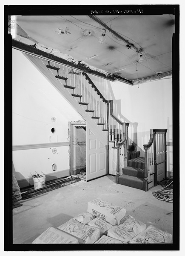
[[[72,144],[71,144],[71,138],[73,138],[73,131],[74,131],[74,127],[76,126],[83,126],[86,127],[86,122],[85,121],[72,121],[69,122],[68,124],[68,141],[69,141],[69,174],[70,175],[75,175],[80,173],[80,169],[84,169],[84,168],[79,168],[77,170],[72,169],[71,167],[71,151],[72,151]],[[86,138],[85,138],[86,139]]]

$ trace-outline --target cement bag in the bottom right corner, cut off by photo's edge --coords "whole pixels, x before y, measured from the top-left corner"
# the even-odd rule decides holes
[[[170,244],[171,241],[171,234],[150,225],[143,232],[132,238],[129,244]]]

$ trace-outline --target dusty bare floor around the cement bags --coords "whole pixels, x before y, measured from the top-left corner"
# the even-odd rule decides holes
[[[97,197],[126,209],[126,214],[172,234],[172,203],[157,200],[152,191],[145,192],[115,183],[105,176],[89,182],[81,180],[27,200],[13,209],[13,244],[31,244],[48,227],[59,227],[74,216],[87,211],[87,203]]]

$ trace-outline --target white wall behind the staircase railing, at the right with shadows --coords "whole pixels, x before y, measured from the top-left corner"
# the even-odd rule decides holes
[[[149,141],[150,129],[168,129],[167,141],[172,142],[172,79],[161,79],[138,85],[109,82],[90,76],[107,99],[114,100],[114,113],[129,122],[129,137],[136,142],[143,156],[143,144]],[[110,96],[111,95],[111,96]],[[106,98],[105,97],[105,98]],[[173,171],[173,147],[167,147],[167,171]]]

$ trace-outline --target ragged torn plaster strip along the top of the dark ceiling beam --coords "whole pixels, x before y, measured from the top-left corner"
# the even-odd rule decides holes
[[[68,54],[64,54],[64,53],[60,52],[59,50],[54,49],[52,47],[46,47],[45,45],[40,44],[40,43],[34,41],[34,39],[32,39],[30,37],[27,37],[27,36],[24,37],[22,35],[16,35],[16,37],[14,39],[16,41],[20,41],[20,42],[22,42],[24,44],[30,45],[32,47],[35,47],[38,50],[42,50],[42,51],[44,51],[46,53],[50,53],[50,54],[52,54],[54,56],[57,56],[57,57],[62,58],[62,59],[65,59],[66,61],[71,62],[71,64],[74,63],[74,64],[78,65],[80,63],[80,64],[85,65],[86,68],[89,68],[92,71],[97,71],[97,72],[99,72],[101,74],[104,74],[106,77],[112,76],[112,73],[108,73],[105,70],[102,70],[102,69],[96,68],[94,66],[88,65],[88,63],[86,63],[84,61],[78,61],[78,60],[74,59],[72,56],[70,56]]]

